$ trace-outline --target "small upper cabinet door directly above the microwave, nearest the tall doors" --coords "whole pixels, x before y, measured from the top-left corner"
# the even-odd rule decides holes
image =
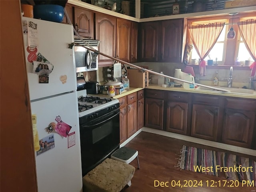
[[[80,36],[93,38],[93,12],[74,8],[75,29]]]

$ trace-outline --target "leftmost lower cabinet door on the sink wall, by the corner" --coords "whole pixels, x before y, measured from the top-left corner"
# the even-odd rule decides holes
[[[163,129],[164,100],[145,99],[145,126],[155,129]]]

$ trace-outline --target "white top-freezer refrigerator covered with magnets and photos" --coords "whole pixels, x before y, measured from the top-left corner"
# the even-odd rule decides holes
[[[39,192],[82,192],[71,25],[22,18]]]

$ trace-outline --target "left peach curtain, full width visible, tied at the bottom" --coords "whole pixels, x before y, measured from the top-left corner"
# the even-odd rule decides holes
[[[216,22],[188,26],[192,43],[200,57],[199,73],[201,76],[206,76],[206,62],[204,58],[208,56],[214,44],[217,42],[224,25],[224,22]]]

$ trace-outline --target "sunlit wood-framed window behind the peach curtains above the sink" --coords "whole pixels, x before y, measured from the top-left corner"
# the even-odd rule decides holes
[[[191,19],[191,20],[188,20],[188,24],[196,25],[196,24],[208,24],[208,23],[214,23],[214,22],[225,22],[226,25],[224,26],[216,44],[214,45],[214,47],[209,53],[210,59],[214,61],[213,64],[217,64],[217,65],[235,65],[235,61],[236,59],[238,59],[240,61],[240,65],[244,66],[245,60],[250,60],[250,64],[252,64],[254,60],[252,60],[248,50],[246,49],[246,46],[244,45],[244,42],[241,38],[241,35],[239,34],[238,26],[236,23],[238,21],[247,20],[249,18],[256,19],[254,15],[250,16],[248,14],[246,15],[244,14],[239,16],[238,14],[236,18],[234,17],[233,28],[236,32],[236,37],[234,40],[227,40],[226,38],[226,34],[228,33],[228,30],[231,28],[232,16],[219,16],[219,17],[212,17],[212,18]],[[188,39],[190,39],[189,33],[188,33]],[[195,49],[192,50],[190,59],[199,59],[199,56]],[[209,57],[206,57],[204,59],[206,63],[208,59]]]

